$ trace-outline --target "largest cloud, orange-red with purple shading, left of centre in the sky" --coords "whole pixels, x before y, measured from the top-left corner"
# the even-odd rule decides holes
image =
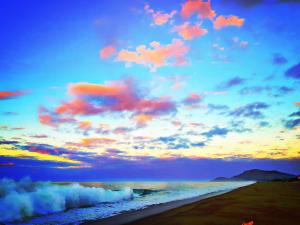
[[[170,98],[147,98],[130,78],[106,84],[70,84],[68,93],[74,98],[62,102],[54,111],[40,108],[41,123],[56,127],[61,123],[76,122],[74,116],[129,112],[141,125],[177,111]]]

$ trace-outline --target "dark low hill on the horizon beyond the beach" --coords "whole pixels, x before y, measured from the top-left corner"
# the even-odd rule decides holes
[[[296,179],[296,175],[283,173],[276,170],[246,170],[243,173],[230,178],[217,177],[212,181],[274,181],[274,180],[292,180]]]

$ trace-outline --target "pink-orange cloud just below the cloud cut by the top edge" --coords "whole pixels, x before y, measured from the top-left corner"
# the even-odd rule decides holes
[[[178,32],[178,34],[185,40],[201,37],[207,33],[207,30],[201,28],[200,25],[190,25],[187,22],[180,26],[176,26],[174,31]]]

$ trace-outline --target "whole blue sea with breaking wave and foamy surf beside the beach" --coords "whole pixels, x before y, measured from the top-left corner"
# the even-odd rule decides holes
[[[14,188],[7,185],[2,190],[2,196],[1,187],[3,189],[4,185],[0,183],[0,212],[4,212],[0,215],[0,222],[24,225],[80,224],[128,210],[232,190],[251,183],[112,182],[97,183],[97,187],[79,184],[16,184]]]

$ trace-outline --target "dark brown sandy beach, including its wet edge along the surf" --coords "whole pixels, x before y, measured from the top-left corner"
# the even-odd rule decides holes
[[[94,225],[300,225],[300,182],[261,182],[228,193],[130,211]]]

